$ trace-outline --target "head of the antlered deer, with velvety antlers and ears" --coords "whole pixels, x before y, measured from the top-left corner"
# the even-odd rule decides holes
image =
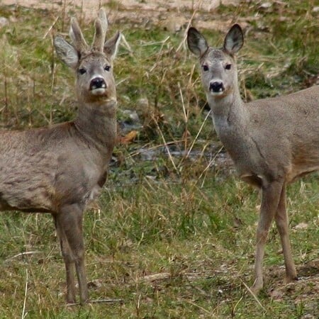
[[[95,21],[95,34],[91,47],[86,43],[79,24],[71,20],[69,43],[61,35],[54,39],[57,56],[77,73],[76,91],[79,101],[101,103],[116,100],[116,84],[113,78],[113,59],[118,50],[121,33],[105,40],[108,21],[101,9]]]

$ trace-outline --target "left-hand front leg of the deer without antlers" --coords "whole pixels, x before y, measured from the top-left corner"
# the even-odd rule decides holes
[[[269,227],[272,225],[275,213],[279,205],[279,198],[284,182],[274,181],[267,186],[262,186],[262,205],[257,226],[257,245],[254,261],[254,285],[252,292],[258,293],[264,284],[262,278],[262,262],[264,259],[264,245],[267,240]]]

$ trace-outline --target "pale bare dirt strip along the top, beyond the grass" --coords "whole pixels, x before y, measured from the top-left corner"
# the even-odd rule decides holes
[[[211,11],[220,4],[237,6],[239,0],[2,0],[0,4],[26,6],[55,11],[81,12],[84,20],[96,17],[101,6],[106,8],[108,20],[130,21],[147,28],[152,24],[163,26],[172,32],[184,28],[194,18],[198,28],[228,28],[232,21],[221,21],[220,17],[211,16]],[[194,13],[192,16],[191,13]]]

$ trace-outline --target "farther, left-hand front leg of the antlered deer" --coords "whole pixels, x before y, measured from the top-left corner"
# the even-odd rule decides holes
[[[61,225],[60,218],[57,218],[57,216],[53,216],[53,218],[55,220],[55,229],[57,230],[57,237],[60,240],[62,257],[65,262],[65,271],[67,274],[67,303],[75,303],[74,259],[72,252],[69,249],[69,243],[67,242],[67,237],[65,236],[65,231]]]

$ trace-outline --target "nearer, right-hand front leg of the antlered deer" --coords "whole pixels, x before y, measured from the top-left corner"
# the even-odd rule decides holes
[[[68,206],[64,206],[59,215],[57,216],[57,220],[60,223],[62,228],[62,233],[65,235],[65,239],[67,240],[69,246],[69,253],[72,256],[72,262],[74,263],[75,270],[77,272],[77,280],[79,282],[79,296],[80,303],[86,303],[89,301],[89,291],[87,288],[86,282],[86,272],[85,272],[85,264],[84,264],[84,241],[83,241],[83,230],[82,230],[82,218],[83,218],[83,209],[80,208],[77,204],[72,204]],[[72,283],[72,276],[68,274],[67,268],[67,280],[69,280],[69,284],[71,289],[68,286],[68,296],[72,296],[74,289],[74,279]],[[67,283],[68,284],[68,283]]]

